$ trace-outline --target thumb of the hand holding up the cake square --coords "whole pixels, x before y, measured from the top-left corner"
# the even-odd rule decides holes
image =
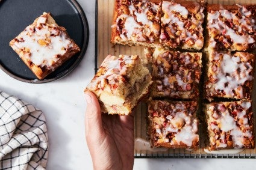
[[[86,96],[87,108],[86,108],[86,138],[90,132],[102,133],[102,120],[101,120],[101,107],[97,97],[91,91],[84,92]]]

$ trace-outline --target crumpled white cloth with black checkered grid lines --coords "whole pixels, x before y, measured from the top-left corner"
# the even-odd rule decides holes
[[[47,157],[42,111],[0,91],[0,169],[45,169]]]

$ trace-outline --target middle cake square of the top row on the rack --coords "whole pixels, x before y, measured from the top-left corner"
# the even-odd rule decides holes
[[[196,1],[164,0],[160,43],[171,49],[202,49],[204,9]]]

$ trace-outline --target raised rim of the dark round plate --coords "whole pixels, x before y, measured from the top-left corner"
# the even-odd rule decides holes
[[[6,1],[6,0],[4,0]],[[4,2],[2,1],[2,2]],[[81,7],[81,5],[76,1],[76,0],[66,0],[69,2],[70,5],[73,6],[73,8],[75,9],[75,11],[77,11],[78,16],[80,17],[81,23],[83,25],[83,46],[81,47],[81,51],[79,53],[79,56],[77,56],[75,62],[73,62],[72,65],[70,65],[66,70],[62,71],[61,73],[57,74],[57,76],[52,77],[51,79],[26,79],[20,76],[17,76],[16,74],[11,73],[11,71],[9,71],[7,68],[5,68],[1,63],[0,63],[0,69],[3,70],[6,74],[8,74],[8,76],[13,77],[16,80],[19,80],[21,82],[26,82],[26,83],[47,83],[47,82],[52,82],[55,80],[59,80],[65,76],[67,76],[67,74],[71,73],[77,66],[78,64],[81,62],[81,60],[83,59],[88,44],[89,44],[89,23],[86,17],[86,14],[84,13],[83,8]],[[1,1],[0,1],[1,3]],[[1,5],[1,4],[0,4]]]

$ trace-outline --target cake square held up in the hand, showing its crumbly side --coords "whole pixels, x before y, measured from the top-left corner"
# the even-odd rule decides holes
[[[108,55],[86,87],[96,94],[102,113],[129,115],[152,84],[137,55]]]

